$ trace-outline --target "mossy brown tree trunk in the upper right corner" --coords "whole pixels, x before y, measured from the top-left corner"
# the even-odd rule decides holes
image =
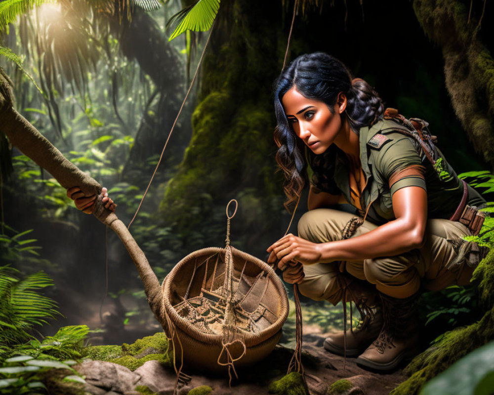
[[[426,35],[442,49],[446,86],[476,150],[494,168],[494,60],[461,0],[414,0]],[[468,1],[469,3],[469,1]],[[484,20],[484,23],[490,21]]]

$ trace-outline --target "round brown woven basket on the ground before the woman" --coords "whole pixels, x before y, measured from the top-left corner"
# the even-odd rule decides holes
[[[187,255],[162,285],[165,314],[175,329],[175,355],[180,358],[182,351],[186,366],[222,371],[228,362],[228,353],[235,366],[247,365],[267,356],[281,337],[282,325],[288,316],[288,298],[282,281],[263,261],[228,248],[233,258],[231,273],[232,290],[238,301],[236,314],[243,317],[244,320],[240,320],[243,325],[247,322],[247,326],[254,329],[239,331],[242,342],[231,344],[225,350],[221,333],[206,333],[204,328],[184,317],[183,312],[187,311],[184,306],[190,306],[190,301],[200,300],[205,295],[209,299],[217,297],[219,294],[215,291],[221,289],[227,275],[226,248],[204,248]],[[172,337],[170,329],[167,328],[167,332]]]

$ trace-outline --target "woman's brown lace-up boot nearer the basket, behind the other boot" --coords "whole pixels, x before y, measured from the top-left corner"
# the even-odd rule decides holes
[[[348,286],[347,292],[361,316],[358,326],[346,331],[346,356],[356,357],[375,340],[382,328],[383,319],[374,286],[355,281]],[[326,338],[324,348],[330,353],[344,356],[345,332],[341,331]]]

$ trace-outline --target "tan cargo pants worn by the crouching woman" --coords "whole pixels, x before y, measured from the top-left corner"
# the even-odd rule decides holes
[[[355,215],[328,208],[311,210],[300,219],[298,234],[315,243],[340,240],[341,231],[353,217]],[[353,237],[375,228],[377,225],[365,221]],[[479,263],[480,253],[476,243],[461,239],[465,235],[471,232],[459,222],[431,219],[427,222],[425,243],[419,249],[362,261],[305,265],[300,292],[335,305],[355,277],[375,284],[379,292],[395,298],[407,298],[421,285],[429,290],[466,285]]]

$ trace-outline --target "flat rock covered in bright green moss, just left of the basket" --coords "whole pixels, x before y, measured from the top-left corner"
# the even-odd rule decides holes
[[[171,366],[173,358],[171,353],[168,353],[168,339],[163,332],[137,339],[132,344],[124,343],[122,346],[86,347],[82,356],[118,363],[132,371],[151,360]]]

